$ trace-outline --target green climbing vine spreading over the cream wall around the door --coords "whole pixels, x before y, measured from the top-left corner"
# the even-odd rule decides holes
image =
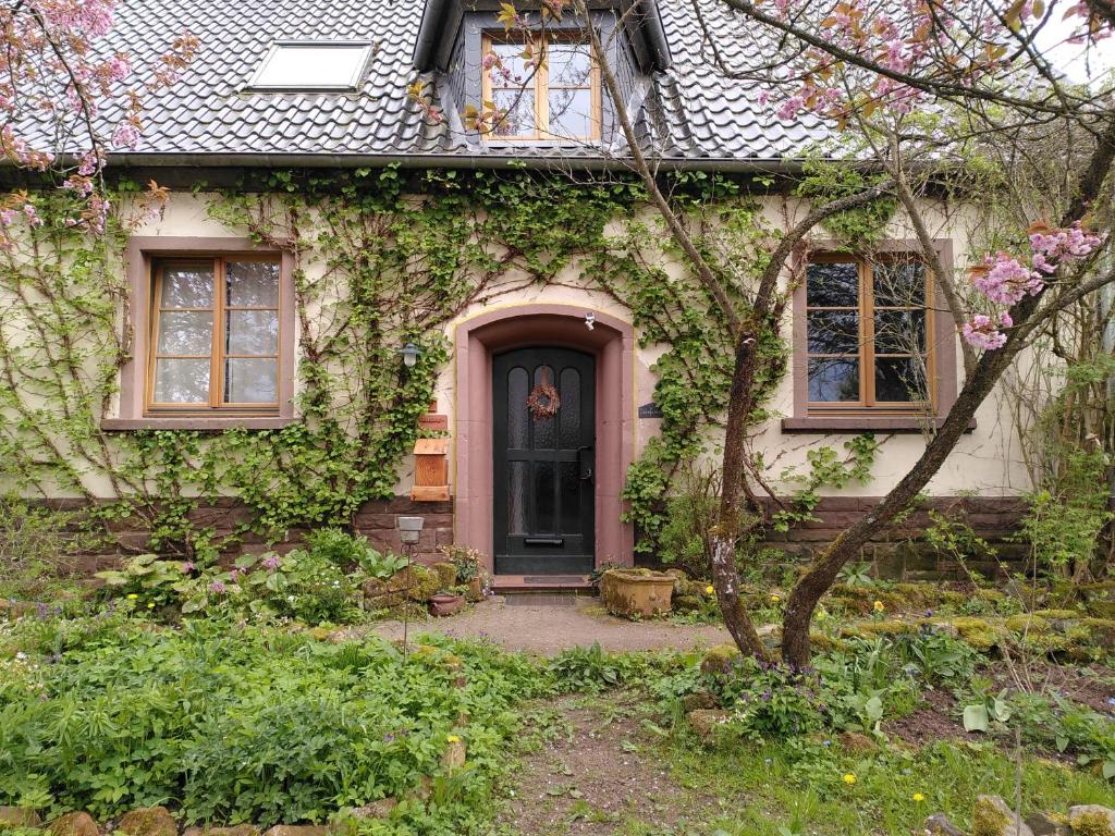
[[[677,185],[702,245],[739,270],[730,279],[744,299],[769,234],[757,210],[726,182]],[[116,203],[127,205],[127,192],[122,185]],[[207,560],[248,534],[277,539],[351,522],[365,502],[395,494],[449,357],[446,323],[532,285],[605,294],[631,311],[643,344],[663,347],[661,435],[626,490],[646,543],[678,464],[702,453],[724,408],[727,330],[663,246],[637,185],[394,167],[274,172],[211,194],[209,213],[293,257],[301,420],[263,431],[106,432],[99,418],[112,411],[133,342],[122,260],[129,222],[119,212],[94,239],[55,220],[49,195],[35,200],[47,223],[0,255],[0,482],[113,500],[90,513],[109,524],[107,537],[110,523],[132,517],[152,532],[152,547]],[[406,342],[421,349],[413,368],[399,358]],[[225,496],[246,513],[231,542],[217,542],[203,509]]]

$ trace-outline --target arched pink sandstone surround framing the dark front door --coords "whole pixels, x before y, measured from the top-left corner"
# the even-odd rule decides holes
[[[620,521],[623,511],[620,494],[634,454],[634,336],[629,323],[599,311],[593,311],[590,329],[585,323],[588,312],[564,304],[516,305],[485,311],[457,325],[455,539],[487,555],[488,570],[497,576],[578,576],[605,562],[633,561],[633,532],[630,523]],[[523,360],[524,356],[514,353],[525,350],[536,352],[529,362]],[[533,389],[534,376],[541,379],[543,367],[551,369],[546,373],[554,375],[559,367],[572,368],[570,362],[576,357],[584,360],[578,361],[581,368],[576,393],[570,388],[568,397],[580,399],[578,415],[586,417],[586,425],[579,422],[574,432],[574,422],[566,420],[564,440],[547,435],[551,429],[561,432],[560,418],[533,428],[527,425],[527,435],[515,438],[508,436],[508,427],[496,426],[497,414],[502,412],[505,422],[512,415],[511,399],[523,396],[518,391],[523,383],[530,382]],[[504,383],[500,386],[494,383],[497,358],[510,358],[503,363]],[[527,372],[530,363],[533,364]],[[512,382],[507,376],[513,368],[522,369],[527,377],[522,379],[518,375],[518,382]],[[584,388],[589,380],[585,376],[591,376],[589,389]],[[569,380],[566,383],[572,387]],[[560,377],[558,385],[561,391]],[[512,390],[513,387],[518,388]],[[583,410],[585,400],[592,402],[591,415]],[[514,414],[522,417],[517,407]],[[543,436],[537,443],[530,435],[532,430]],[[523,444],[526,446],[514,446]],[[591,455],[582,447],[591,447]],[[526,459],[527,464],[508,466],[511,461]],[[591,469],[590,479],[582,478],[586,469]],[[559,507],[562,478],[566,504]],[[522,504],[512,507],[515,485],[525,488],[531,484],[535,488],[541,486],[544,507],[539,507],[537,496],[522,494],[518,498],[530,499],[533,507]],[[546,504],[551,488],[552,506]],[[579,508],[575,515],[571,504]],[[565,519],[552,521],[552,513],[564,514]],[[513,514],[518,516],[513,519]],[[512,532],[516,527],[521,531]],[[501,532],[505,533],[504,541],[497,543]],[[523,542],[525,537],[532,542]],[[559,539],[561,543],[555,542]],[[510,560],[496,563],[495,555]],[[546,557],[555,560],[547,562]]]

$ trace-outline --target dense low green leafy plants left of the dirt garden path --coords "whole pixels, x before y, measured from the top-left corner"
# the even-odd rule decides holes
[[[456,809],[506,768],[508,709],[540,681],[531,662],[483,644],[404,659],[378,639],[333,644],[219,621],[114,628],[75,638],[72,623],[38,622],[17,636],[28,657],[0,662],[0,682],[12,682],[0,686],[0,804],[104,819],[169,800],[183,824],[266,826],[401,798],[429,776]],[[51,631],[68,636],[54,663],[37,654],[59,644]],[[446,789],[449,735],[466,742],[468,767]]]

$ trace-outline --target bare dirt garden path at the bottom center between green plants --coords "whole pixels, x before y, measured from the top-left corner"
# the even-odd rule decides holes
[[[573,698],[554,706],[566,729],[523,760],[507,790],[511,833],[598,836],[636,823],[673,833],[696,800],[662,770],[657,738],[631,700],[609,694],[607,710]]]

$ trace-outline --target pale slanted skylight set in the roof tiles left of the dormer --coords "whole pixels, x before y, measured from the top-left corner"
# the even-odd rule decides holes
[[[256,90],[352,90],[363,76],[370,43],[300,41],[274,43],[255,70]]]

